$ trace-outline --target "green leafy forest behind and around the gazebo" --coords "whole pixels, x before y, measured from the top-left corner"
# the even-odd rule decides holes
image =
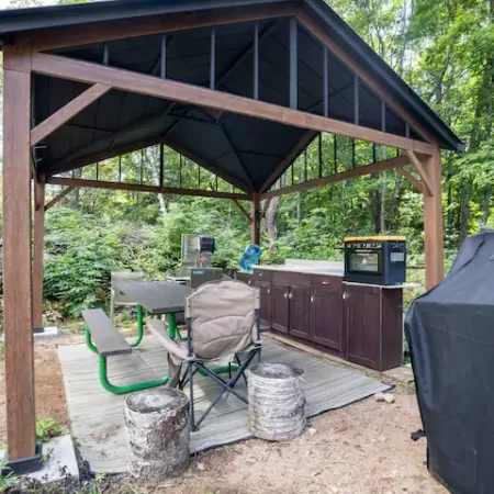
[[[2,8],[48,2],[5,3]],[[448,268],[468,235],[494,228],[494,0],[327,3],[465,143],[463,155],[442,156]],[[305,166],[308,178],[315,172],[316,144],[297,159],[293,172],[289,170],[290,180],[302,180]],[[335,156],[333,136],[323,136],[323,156],[329,167],[335,166],[329,164]],[[337,139],[338,171],[347,166],[350,155],[351,143]],[[357,159],[364,159],[364,155],[366,150],[358,147]],[[100,179],[112,179],[116,159],[99,165]],[[207,188],[216,180],[167,148],[165,162],[166,177],[171,180],[181,169],[186,187],[195,188],[199,179]],[[155,180],[157,164],[156,148],[122,157],[127,181]],[[92,178],[96,172],[94,165],[77,173]],[[221,183],[222,188],[231,190],[226,183]],[[49,200],[59,189],[52,186],[47,192]],[[422,281],[422,195],[394,171],[285,195],[271,201],[262,222],[262,259],[340,260],[347,235],[403,234],[408,240],[411,263],[419,268],[411,270],[409,278]],[[44,288],[48,316],[71,318],[79,316],[83,307],[106,305],[111,271],[143,270],[149,279],[164,279],[180,263],[182,233],[213,235],[217,245],[215,263],[232,271],[249,243],[250,228],[246,217],[227,200],[72,191],[46,217]]]

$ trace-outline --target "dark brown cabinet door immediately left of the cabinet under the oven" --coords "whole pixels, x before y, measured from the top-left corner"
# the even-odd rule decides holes
[[[312,330],[318,345],[343,352],[344,301],[341,283],[332,289],[312,289]]]

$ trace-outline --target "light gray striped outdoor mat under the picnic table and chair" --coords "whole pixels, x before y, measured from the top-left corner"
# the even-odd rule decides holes
[[[114,395],[103,390],[98,378],[98,357],[86,345],[60,346],[58,358],[71,431],[80,444],[82,458],[94,473],[126,472],[124,402],[127,395]],[[307,417],[390,389],[358,371],[270,340],[262,347],[262,360],[292,363],[305,370]],[[110,357],[108,368],[110,381],[119,385],[156,379],[167,372],[166,351],[153,336],[146,336],[134,353]],[[243,380],[237,386],[246,394]],[[194,377],[198,411],[207,406],[218,388],[212,379]],[[249,437],[247,405],[227,395],[201,424],[201,429],[192,434],[191,452]]]

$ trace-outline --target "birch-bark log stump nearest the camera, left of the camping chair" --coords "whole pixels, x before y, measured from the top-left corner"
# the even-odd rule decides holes
[[[156,388],[125,401],[128,470],[137,479],[180,476],[190,459],[189,398],[180,390]]]

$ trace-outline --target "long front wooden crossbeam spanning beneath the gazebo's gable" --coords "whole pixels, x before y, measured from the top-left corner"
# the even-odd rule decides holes
[[[256,101],[249,98],[213,91],[197,86],[162,80],[143,74],[105,67],[88,61],[81,61],[56,55],[33,54],[33,71],[45,76],[60,77],[80,82],[101,82],[114,89],[146,94],[155,98],[178,101],[186,104],[207,106],[231,113],[238,113],[256,119],[292,125],[295,127],[344,135],[375,144],[397,147],[400,149],[416,150],[417,153],[433,153],[433,146],[420,141],[388,134],[373,128],[340,122],[324,116],[304,113],[271,103]]]

